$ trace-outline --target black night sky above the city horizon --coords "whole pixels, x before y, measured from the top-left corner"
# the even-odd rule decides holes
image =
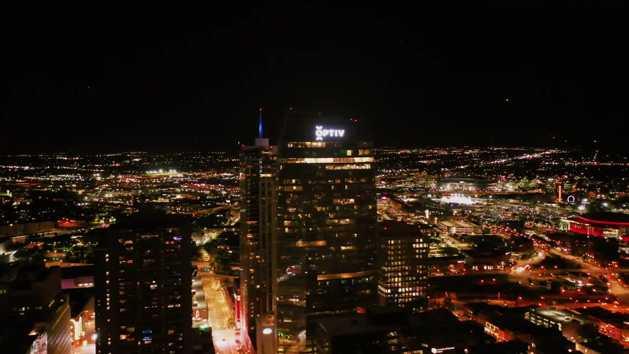
[[[259,107],[272,139],[295,107],[380,145],[615,147],[628,127],[620,8],[85,3],[4,4],[2,151],[221,149]]]

